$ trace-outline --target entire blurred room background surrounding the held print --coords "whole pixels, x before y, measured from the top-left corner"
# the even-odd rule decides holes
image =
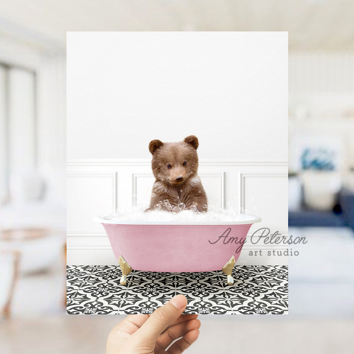
[[[228,352],[221,333],[243,338],[245,353],[349,353],[353,13],[351,0],[1,2],[0,352],[102,352],[123,318],[65,314],[65,32],[281,30],[289,31],[289,235],[308,241],[289,247],[299,251],[289,257],[290,314],[203,317],[189,353]]]

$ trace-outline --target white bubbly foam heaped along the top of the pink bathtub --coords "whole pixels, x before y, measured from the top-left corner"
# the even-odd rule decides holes
[[[107,213],[96,218],[95,221],[104,222],[105,220],[109,221],[109,223],[139,223],[147,224],[150,223],[163,223],[166,224],[168,222],[176,223],[176,224],[221,224],[225,223],[247,223],[247,221],[258,222],[261,219],[255,215],[250,214],[240,214],[236,209],[220,209],[216,207],[208,207],[207,212],[196,213],[192,210],[181,210],[178,213],[174,214],[169,211],[156,211],[151,210],[145,212],[145,208],[141,207],[130,207],[127,209],[118,210],[117,213]]]

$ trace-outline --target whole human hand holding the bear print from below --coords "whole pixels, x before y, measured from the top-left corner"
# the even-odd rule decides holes
[[[106,354],[184,352],[197,340],[200,327],[198,315],[182,315],[186,306],[185,296],[177,295],[151,315],[127,316],[110,332]]]

